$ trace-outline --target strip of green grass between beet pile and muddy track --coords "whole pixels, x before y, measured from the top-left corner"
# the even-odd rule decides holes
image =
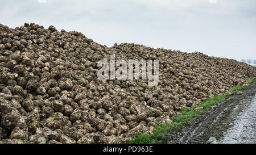
[[[250,79],[248,83],[253,83],[254,81],[256,81],[256,78]],[[235,92],[237,90],[242,90],[244,87],[245,86],[233,87],[230,91]],[[205,112],[210,110],[210,108],[213,105],[222,102],[229,96],[230,94],[215,95],[212,98],[208,98],[207,100],[202,102],[200,105],[192,107],[191,110],[183,109],[180,111],[181,115],[171,117],[171,120],[172,120],[171,124],[166,123],[166,124],[156,125],[153,131],[153,135],[146,135],[145,133],[139,133],[137,136],[131,139],[130,144],[154,144],[154,143],[161,144],[163,143],[162,138],[164,135],[166,135],[167,133],[180,131],[182,127],[185,127],[186,125],[188,125],[189,122],[192,122],[193,118],[201,114],[204,114]],[[203,109],[199,111],[195,111],[195,108],[197,107],[203,107]]]

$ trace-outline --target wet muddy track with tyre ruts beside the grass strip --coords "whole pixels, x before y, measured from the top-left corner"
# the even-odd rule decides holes
[[[232,95],[196,117],[180,132],[167,134],[165,143],[256,143],[256,82],[245,87],[242,95]]]

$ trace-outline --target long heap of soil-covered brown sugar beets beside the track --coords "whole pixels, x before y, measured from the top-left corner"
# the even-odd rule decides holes
[[[97,61],[159,60],[159,83],[100,80]],[[256,68],[228,58],[138,44],[97,44],[80,32],[0,24],[0,143],[128,143]]]

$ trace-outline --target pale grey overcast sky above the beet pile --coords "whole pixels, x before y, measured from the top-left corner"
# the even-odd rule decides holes
[[[0,23],[79,31],[97,43],[137,43],[256,59],[255,0],[0,0]]]

